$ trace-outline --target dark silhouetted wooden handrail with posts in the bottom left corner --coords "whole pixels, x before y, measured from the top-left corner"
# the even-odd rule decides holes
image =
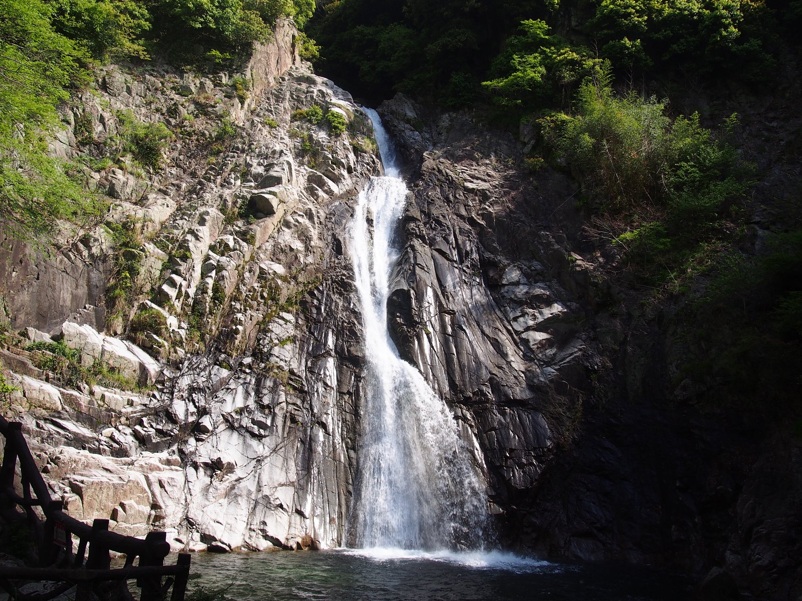
[[[6,504],[2,507],[8,510],[10,502],[12,515],[14,512],[19,515],[14,506],[21,506],[25,510],[24,514],[36,533],[39,562],[42,566],[0,567],[2,587],[6,587],[6,584],[14,579],[65,581],[78,585],[75,598],[76,601],[80,601],[91,596],[89,595],[91,588],[87,587],[95,586],[92,583],[136,579],[142,591],[141,601],[160,601],[164,599],[171,586],[171,601],[183,601],[191,559],[188,554],[181,553],[174,566],[164,566],[164,558],[170,553],[170,544],[164,532],[152,531],[143,540],[110,532],[107,519],[95,519],[89,526],[73,518],[63,511],[63,501],[51,498],[47,483],[39,472],[26,439],[22,435],[22,424],[8,422],[0,415],[0,434],[6,438],[5,453],[0,467],[0,498],[6,499]],[[14,489],[17,462],[22,478],[22,496]],[[31,491],[34,497],[31,496]],[[41,508],[46,518],[44,526],[34,512],[35,506]],[[59,544],[63,543],[56,543],[54,540],[57,526],[67,534],[67,547],[63,550],[59,547]],[[75,555],[72,553],[71,543],[73,534],[79,538],[78,552]],[[87,545],[89,554],[83,567]],[[62,564],[71,563],[73,567],[50,567],[62,551],[65,556]],[[125,567],[111,569],[109,551],[126,555]],[[140,565],[133,566],[136,556],[140,558]],[[168,578],[162,583],[163,576],[175,578]],[[130,597],[127,589],[124,590]]]

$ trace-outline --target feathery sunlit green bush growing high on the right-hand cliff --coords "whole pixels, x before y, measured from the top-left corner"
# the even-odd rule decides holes
[[[699,115],[672,121],[663,103],[618,97],[607,81],[602,71],[583,85],[576,115],[560,120],[557,149],[589,192],[609,208],[649,206],[674,223],[715,219],[743,196],[735,149],[702,127]]]

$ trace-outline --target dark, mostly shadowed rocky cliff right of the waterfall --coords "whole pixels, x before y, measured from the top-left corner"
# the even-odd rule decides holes
[[[618,276],[573,181],[521,169],[522,143],[403,96],[381,111],[415,179],[391,327],[476,430],[501,538],[796,599],[800,444],[677,377],[680,301]]]

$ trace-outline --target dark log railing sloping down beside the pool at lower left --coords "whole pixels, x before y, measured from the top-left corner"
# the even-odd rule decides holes
[[[109,531],[107,519],[95,519],[89,526],[72,518],[64,513],[63,501],[51,498],[22,435],[22,424],[0,416],[0,434],[6,438],[0,467],[0,514],[6,524],[27,523],[38,555],[38,567],[0,566],[0,587],[10,599],[47,601],[76,587],[75,601],[130,601],[134,597],[128,580],[136,579],[140,601],[165,601],[170,587],[171,601],[184,601],[190,556],[180,553],[175,565],[165,566],[170,545],[164,532],[136,538]],[[19,486],[15,486],[17,463]],[[73,536],[78,539],[75,551]],[[124,567],[111,569],[111,551],[125,555]],[[44,593],[21,594],[14,584],[20,581],[45,581],[55,586]]]

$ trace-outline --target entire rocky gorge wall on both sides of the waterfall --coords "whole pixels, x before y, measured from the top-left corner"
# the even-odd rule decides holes
[[[100,141],[119,108],[185,130],[162,171],[91,175],[115,200],[109,218],[142,236],[122,315],[107,315],[115,243],[103,228],[66,232],[51,257],[4,251],[13,329],[53,333],[85,365],[151,389],[70,385],[16,338],[0,355],[20,388],[11,410],[76,516],[168,530],[175,548],[331,547],[346,537],[363,361],[347,227],[380,167],[361,111],[298,63],[290,30],[247,73],[244,102],[233,74],[168,67],[111,69],[84,99]],[[357,127],[337,137],[291,119],[315,103]],[[241,129],[209,158],[224,111]],[[522,173],[519,141],[469,115],[399,98],[383,117],[414,172],[389,325],[484,455],[501,542],[725,566],[755,591],[787,583],[793,551],[775,549],[798,547],[799,485],[776,488],[800,473],[798,448],[744,454],[748,424],[672,404],[671,308],[642,309],[610,284],[618,256],[583,232],[573,180]],[[62,137],[64,155],[83,151]],[[132,330],[145,310],[164,328]]]

